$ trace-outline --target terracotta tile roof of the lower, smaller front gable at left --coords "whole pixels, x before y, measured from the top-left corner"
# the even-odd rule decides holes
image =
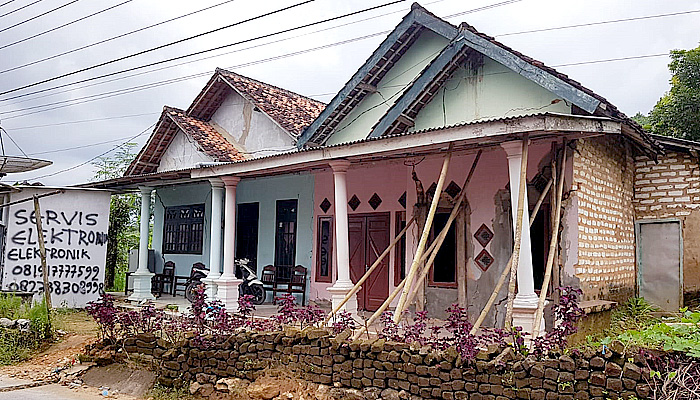
[[[214,161],[244,160],[244,155],[206,121],[188,116],[183,110],[163,107],[163,112],[151,137],[124,173],[125,176],[154,173],[178,130],[184,131],[197,147]]]

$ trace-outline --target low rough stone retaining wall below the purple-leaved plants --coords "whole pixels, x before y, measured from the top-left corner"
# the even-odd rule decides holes
[[[648,371],[642,360],[621,354],[621,344],[605,353],[564,355],[557,359],[511,357],[489,363],[498,353],[483,351],[463,365],[454,350],[440,353],[382,339],[347,341],[321,329],[248,333],[171,345],[153,335],[126,339],[124,349],[153,362],[164,385],[218,379],[253,380],[266,369],[282,367],[300,378],[346,388],[392,388],[414,398],[445,400],[585,400],[649,398]],[[616,350],[616,351],[615,351]],[[646,378],[646,379],[645,379]]]

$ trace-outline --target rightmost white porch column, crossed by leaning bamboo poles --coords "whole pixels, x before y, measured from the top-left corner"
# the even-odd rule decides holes
[[[513,216],[513,232],[518,218],[518,192],[520,187],[520,166],[522,162],[522,145],[520,140],[501,144],[508,157],[510,175],[510,202]],[[527,202],[527,188],[525,201]],[[525,332],[532,332],[532,324],[537,309],[537,294],[532,272],[532,245],[530,241],[530,211],[528,204],[523,207],[522,236],[520,238],[520,258],[518,260],[518,293],[513,303],[513,326],[522,326]],[[544,323],[544,320],[542,321]],[[544,329],[542,329],[544,331]]]

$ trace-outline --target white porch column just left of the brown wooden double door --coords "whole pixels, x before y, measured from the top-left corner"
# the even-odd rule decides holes
[[[335,187],[335,254],[336,265],[338,266],[338,277],[335,284],[328,288],[328,291],[331,293],[333,308],[335,308],[354,286],[350,280],[348,191],[346,182],[350,162],[347,160],[337,160],[331,161],[329,164],[333,170],[333,185]],[[357,313],[357,297],[353,296],[345,303],[342,309],[351,314]]]

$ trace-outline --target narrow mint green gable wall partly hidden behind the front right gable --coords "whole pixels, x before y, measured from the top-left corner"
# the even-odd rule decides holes
[[[444,37],[424,30],[411,48],[379,82],[377,85],[379,93],[365,96],[360,104],[340,123],[335,133],[328,139],[328,144],[366,138],[372,126],[447,43],[448,40]],[[388,101],[385,102],[385,100]]]

